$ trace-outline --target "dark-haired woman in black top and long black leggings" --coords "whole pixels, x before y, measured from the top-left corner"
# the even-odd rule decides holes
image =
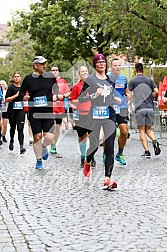
[[[23,99],[19,96],[19,92],[21,89],[20,73],[15,72],[9,83],[11,83],[11,85],[8,87],[5,96],[5,101],[9,103],[7,110],[10,124],[9,150],[13,151],[14,149],[14,135],[17,126],[18,140],[20,144],[20,154],[23,154],[26,152],[26,149],[23,147],[25,112],[23,107]]]

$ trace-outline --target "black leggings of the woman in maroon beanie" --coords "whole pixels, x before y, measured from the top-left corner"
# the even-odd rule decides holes
[[[87,162],[90,162],[99,146],[100,129],[103,128],[105,137],[105,176],[111,177],[114,166],[114,141],[116,136],[115,122],[107,120],[107,122],[95,123],[91,128],[89,135],[90,147],[87,150]]]

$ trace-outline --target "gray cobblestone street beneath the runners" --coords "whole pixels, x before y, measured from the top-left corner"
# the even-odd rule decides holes
[[[152,157],[142,159],[138,133],[131,134],[124,151],[127,166],[115,163],[115,191],[102,190],[102,147],[91,177],[83,176],[72,130],[61,133],[62,158],[50,155],[42,171],[34,168],[27,137],[24,156],[18,141],[13,152],[3,143],[0,252],[166,252],[166,138],[159,142],[160,156],[154,156],[150,143]]]

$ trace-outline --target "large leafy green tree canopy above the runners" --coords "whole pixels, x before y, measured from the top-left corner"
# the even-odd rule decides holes
[[[166,0],[41,0],[15,17],[14,33],[28,32],[36,54],[50,62],[89,60],[92,48],[167,60]],[[114,48],[111,48],[114,45]]]

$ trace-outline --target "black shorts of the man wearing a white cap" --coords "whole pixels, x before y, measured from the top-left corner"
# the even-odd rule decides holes
[[[33,112],[29,112],[29,122],[31,124],[32,133],[36,135],[41,132],[54,133],[54,119],[36,119]]]

